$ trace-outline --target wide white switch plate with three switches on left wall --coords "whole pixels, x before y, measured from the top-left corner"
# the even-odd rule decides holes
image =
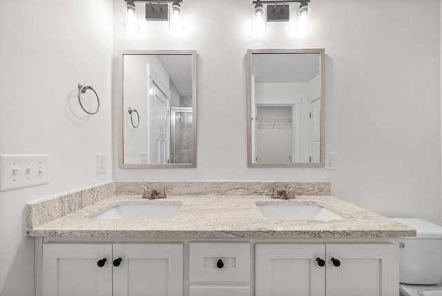
[[[0,191],[49,183],[49,155],[0,155]]]

